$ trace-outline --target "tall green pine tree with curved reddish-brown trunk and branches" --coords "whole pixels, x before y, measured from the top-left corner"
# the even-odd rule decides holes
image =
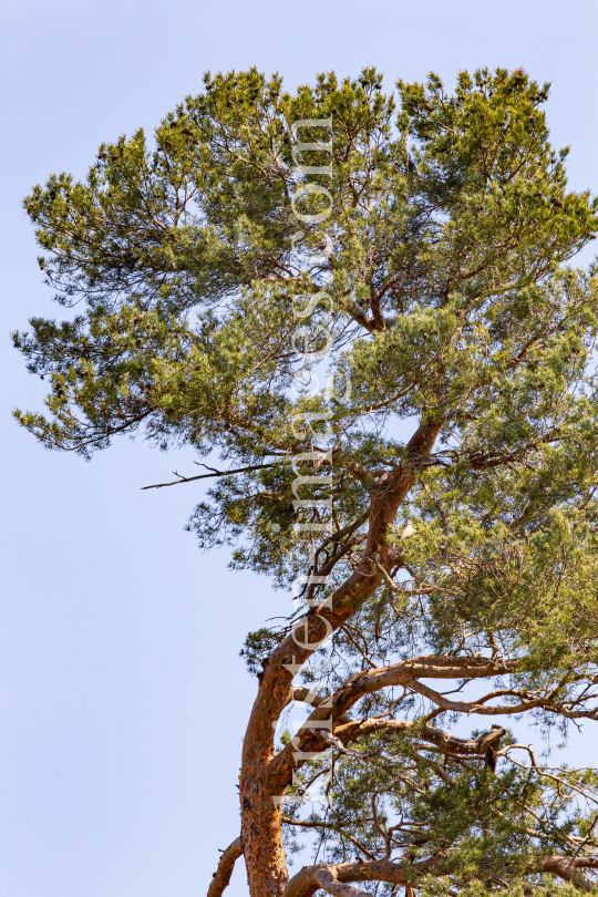
[[[208,73],[154,143],[25,200],[76,309],[14,334],[51,382],[18,420],[85,457],[117,433],[213,453],[179,478],[213,477],[189,529],[295,596],[243,651],[209,897],[241,855],[251,897],[594,888],[597,772],[492,724],[598,718],[598,280],[570,264],[598,204],[548,86],[432,74],[395,104],[372,69],[295,94]]]

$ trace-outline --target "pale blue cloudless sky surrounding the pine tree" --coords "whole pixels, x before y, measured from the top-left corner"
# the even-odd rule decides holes
[[[22,197],[53,172],[82,177],[102,141],[151,132],[207,69],[257,65],[295,87],[371,64],[386,86],[483,65],[551,81],[554,143],[573,146],[571,185],[596,193],[598,3],[20,0],[1,32],[0,897],[202,897],[238,834],[256,692],[238,651],[288,598],[198,551],[183,526],[199,485],[140,492],[190,473],[189,451],[121,440],[85,464],[10,419],[44,384],[9,331],[61,315]],[[596,763],[590,730],[576,762]],[[237,866],[227,895],[246,897]]]

